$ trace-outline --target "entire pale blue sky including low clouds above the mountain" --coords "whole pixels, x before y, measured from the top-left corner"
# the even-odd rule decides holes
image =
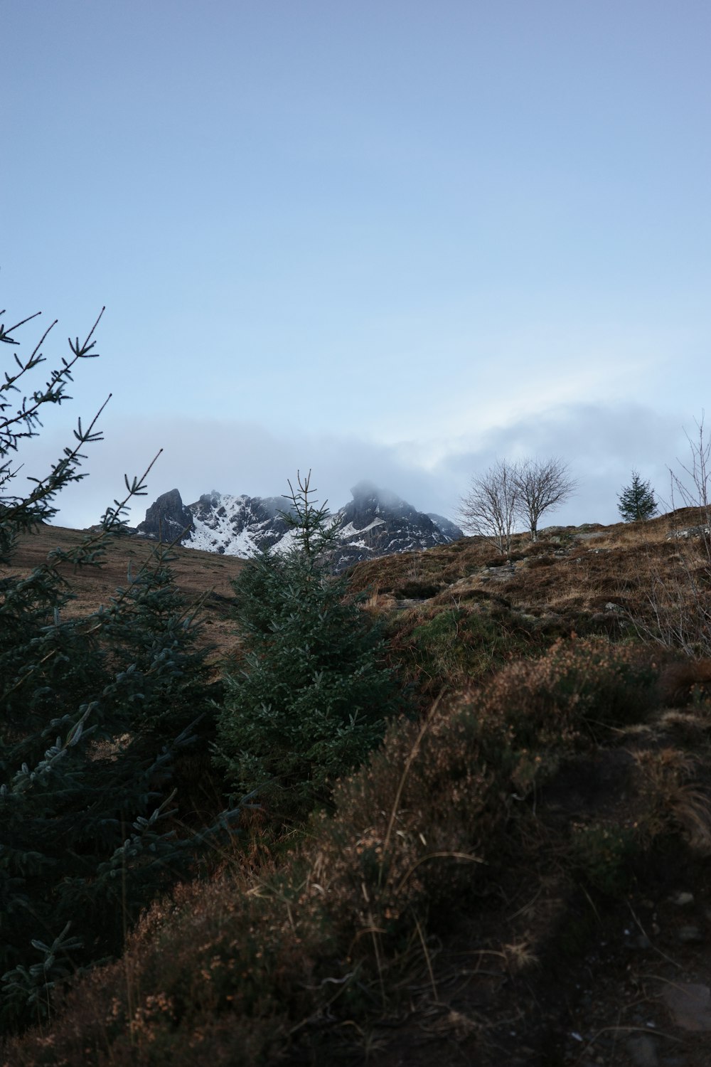
[[[0,307],[100,361],[86,525],[159,448],[177,487],[311,467],[453,514],[495,458],[564,458],[559,522],[616,521],[705,405],[702,0],[4,0]],[[33,325],[25,328],[28,341]],[[138,521],[142,514],[134,514]]]

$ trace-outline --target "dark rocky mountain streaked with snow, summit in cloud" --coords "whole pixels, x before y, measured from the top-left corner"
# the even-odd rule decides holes
[[[462,530],[441,515],[417,511],[394,493],[361,481],[353,499],[332,515],[339,543],[337,570],[361,559],[393,552],[410,552],[449,544]],[[159,496],[139,527],[144,537],[163,541],[179,538],[189,548],[227,556],[248,556],[262,548],[286,551],[293,532],[281,512],[291,511],[284,496],[230,496],[205,493],[183,505],[177,489]]]

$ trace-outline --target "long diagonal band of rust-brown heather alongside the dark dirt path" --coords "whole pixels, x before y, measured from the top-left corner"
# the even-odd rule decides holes
[[[339,1028],[394,1001],[422,966],[425,938],[520,862],[536,818],[526,800],[556,753],[588,744],[602,721],[644,712],[653,678],[631,650],[561,642],[482,691],[439,700],[420,722],[392,722],[278,874],[181,888],[155,906],[120,967],[70,994],[55,1058],[42,1060],[35,1035],[12,1047],[21,1052],[12,1062],[330,1062]],[[566,863],[591,890],[614,894],[640,840],[581,824]]]

